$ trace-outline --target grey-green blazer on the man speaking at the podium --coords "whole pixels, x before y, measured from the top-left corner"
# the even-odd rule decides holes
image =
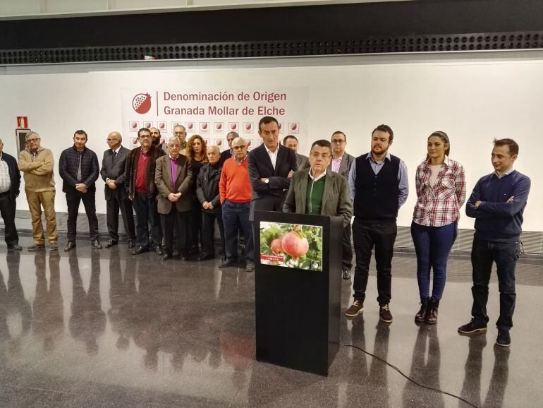
[[[291,186],[288,188],[283,204],[283,212],[305,214],[309,172],[310,169],[305,169],[293,174]],[[353,203],[350,200],[347,179],[328,170],[324,177],[321,215],[329,217],[339,215],[343,217],[343,227],[347,227],[353,217]]]

